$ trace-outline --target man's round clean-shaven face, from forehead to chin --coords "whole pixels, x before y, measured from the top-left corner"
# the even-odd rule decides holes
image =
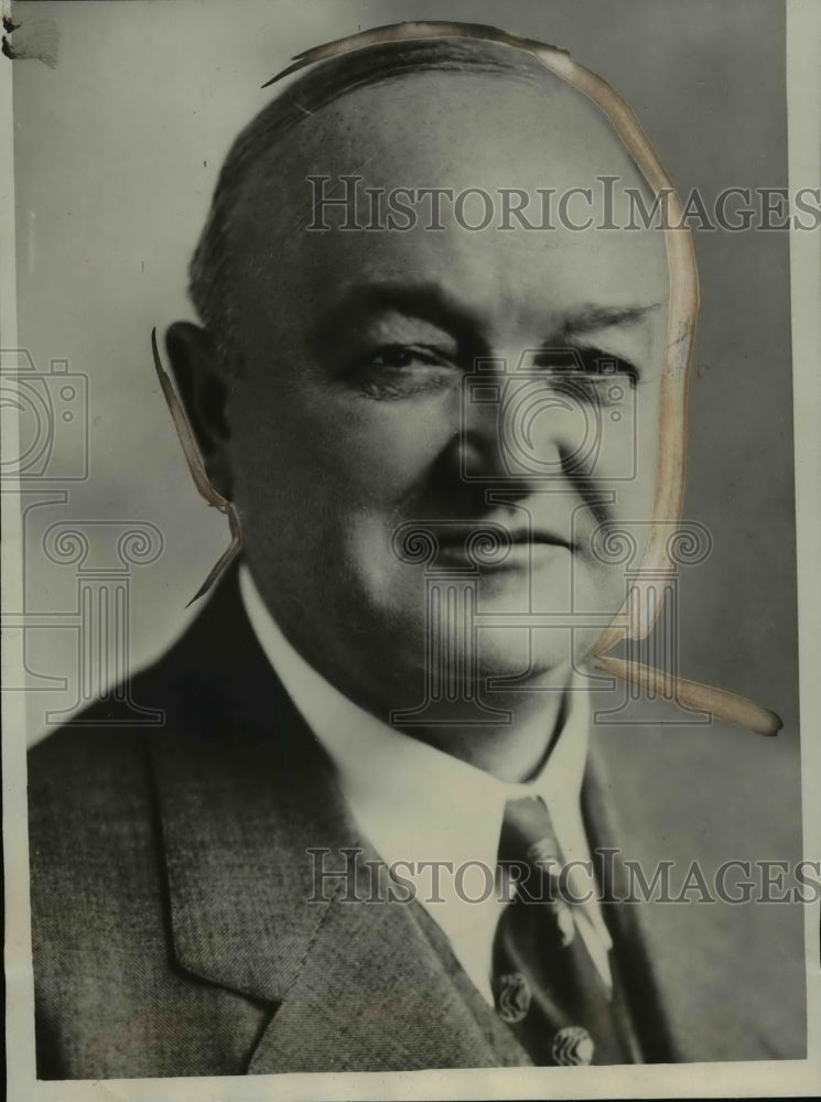
[[[331,208],[320,219],[331,229],[309,229],[311,174],[330,176],[326,190],[363,177],[363,227],[366,188],[380,192],[382,218],[396,188],[482,188],[494,218],[472,231],[443,199],[440,229],[419,205],[406,231],[345,229]],[[440,73],[344,96],[252,172],[234,242],[245,364],[228,408],[234,498],[269,607],[355,696],[420,696],[426,568],[398,553],[401,526],[432,531],[428,569],[462,577],[472,533],[509,533],[507,558],[473,575],[477,611],[514,617],[479,630],[480,676],[549,677],[622,605],[624,565],[602,563],[593,537],[651,515],[669,277],[657,230],[559,224],[571,187],[593,188],[592,210],[571,204],[572,219],[604,218],[597,175],[619,177],[617,223],[625,186],[646,195],[570,87]],[[555,228],[498,229],[501,188],[528,193],[531,224],[539,188],[553,188]],[[473,225],[483,207],[474,198],[460,214]],[[571,631],[572,611],[587,627]],[[517,627],[526,612],[564,626]]]

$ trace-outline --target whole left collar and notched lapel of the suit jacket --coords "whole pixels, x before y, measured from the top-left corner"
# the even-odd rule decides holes
[[[527,1063],[419,904],[350,901],[378,899],[377,855],[228,584],[177,648],[152,735],[177,963],[276,1007],[255,1072]],[[318,880],[345,847],[353,876]]]

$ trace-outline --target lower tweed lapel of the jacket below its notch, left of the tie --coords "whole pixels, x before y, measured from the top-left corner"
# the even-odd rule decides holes
[[[357,879],[359,898],[374,897],[361,861]],[[345,903],[337,894],[250,1071],[528,1063],[447,947],[426,936],[425,920],[419,904]]]

